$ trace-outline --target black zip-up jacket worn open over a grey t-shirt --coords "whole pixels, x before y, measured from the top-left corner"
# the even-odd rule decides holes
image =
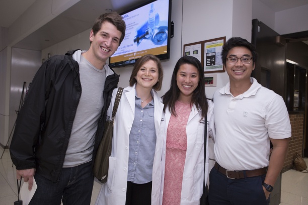
[[[54,182],[62,169],[82,93],[79,64],[72,58],[75,51],[49,58],[37,71],[18,114],[10,145],[16,169],[36,168],[36,173]],[[103,136],[112,90],[118,82],[115,72],[106,78],[93,159]]]

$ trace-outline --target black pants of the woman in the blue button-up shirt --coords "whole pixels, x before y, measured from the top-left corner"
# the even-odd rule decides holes
[[[151,205],[152,182],[136,184],[127,181],[126,205]]]

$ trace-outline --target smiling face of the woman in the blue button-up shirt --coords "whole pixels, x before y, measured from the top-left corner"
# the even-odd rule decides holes
[[[158,82],[159,69],[157,63],[153,60],[146,61],[138,70],[136,76],[136,87],[149,88]]]

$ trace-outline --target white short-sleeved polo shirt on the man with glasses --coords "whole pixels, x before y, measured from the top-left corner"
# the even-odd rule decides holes
[[[230,170],[252,170],[269,164],[270,139],[291,137],[282,97],[251,78],[251,87],[236,97],[230,83],[214,93],[215,159]]]

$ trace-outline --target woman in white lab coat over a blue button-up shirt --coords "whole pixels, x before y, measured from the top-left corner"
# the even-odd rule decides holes
[[[166,129],[164,105],[156,90],[162,81],[163,69],[156,56],[137,60],[115,116],[108,179],[96,204],[158,204]],[[111,116],[116,92],[107,116]]]

